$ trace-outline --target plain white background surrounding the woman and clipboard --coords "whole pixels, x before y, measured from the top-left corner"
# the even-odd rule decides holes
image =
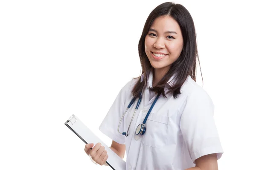
[[[98,127],[123,85],[140,76],[138,41],[163,2],[0,1],[0,169],[110,169],[90,161],[64,122],[75,114],[111,144]],[[204,89],[224,148],[219,169],[254,169],[253,1],[175,2],[195,22]],[[197,79],[202,85],[199,68]]]

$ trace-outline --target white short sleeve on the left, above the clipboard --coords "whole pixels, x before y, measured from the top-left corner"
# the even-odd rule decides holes
[[[99,130],[102,133],[119,144],[125,144],[125,136],[118,133],[117,128],[125,112],[125,99],[128,97],[128,92],[131,92],[131,82],[132,80],[119,91],[119,94],[116,96],[115,101],[99,126]],[[122,121],[119,131],[124,132],[124,121]]]

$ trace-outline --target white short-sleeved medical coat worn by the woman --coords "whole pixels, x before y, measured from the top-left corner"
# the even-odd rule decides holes
[[[194,167],[195,159],[201,156],[217,153],[217,158],[221,157],[223,150],[213,118],[214,105],[190,76],[177,99],[160,95],[148,116],[143,136],[137,136],[135,130],[156,97],[148,90],[143,93],[128,137],[118,133],[119,121],[133,98],[131,90],[136,82],[137,79],[132,79],[122,88],[99,127],[113,141],[125,144],[126,170],[184,170]],[[152,72],[148,77],[148,87],[151,86]],[[136,104],[137,100],[127,111],[120,132],[127,132]]]

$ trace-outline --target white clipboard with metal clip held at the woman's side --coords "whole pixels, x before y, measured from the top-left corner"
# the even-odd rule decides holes
[[[126,162],[122,160],[113,150],[111,150],[104,142],[102,142],[77,116],[72,115],[64,123],[73,133],[76,134],[84,143],[96,144],[100,142],[108,152],[106,163],[113,170],[125,170]]]

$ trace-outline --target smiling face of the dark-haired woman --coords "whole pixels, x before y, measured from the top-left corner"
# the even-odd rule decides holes
[[[145,52],[155,69],[169,70],[183,48],[183,38],[178,23],[170,16],[154,20],[145,37]]]

